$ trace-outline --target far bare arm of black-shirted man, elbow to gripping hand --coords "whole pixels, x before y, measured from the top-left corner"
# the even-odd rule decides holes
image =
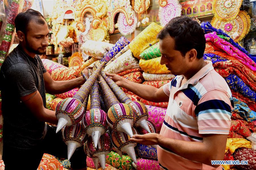
[[[88,76],[87,69],[88,68],[85,68],[83,72]],[[54,81],[52,79],[52,76],[48,72],[45,72],[43,76],[45,90],[50,94],[61,94],[69,90],[72,90],[73,88],[79,87],[85,83],[83,76],[66,81]]]

